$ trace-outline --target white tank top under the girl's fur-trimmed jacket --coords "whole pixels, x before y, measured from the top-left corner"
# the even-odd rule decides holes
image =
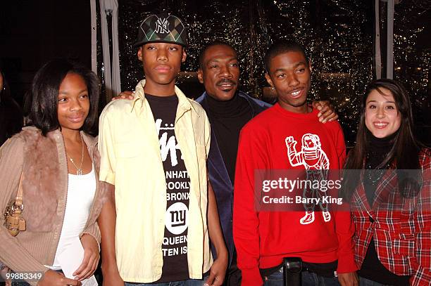
[[[96,176],[94,176],[94,168],[88,174],[81,176],[69,174],[63,228],[61,228],[60,240],[58,241],[54,264],[50,267],[51,269],[61,269],[58,263],[58,255],[68,247],[70,240],[79,238],[82,230],[84,230],[95,193]]]

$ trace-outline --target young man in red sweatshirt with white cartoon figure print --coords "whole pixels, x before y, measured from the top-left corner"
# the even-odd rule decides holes
[[[309,204],[302,212],[256,208],[256,170],[325,175],[342,169],[346,150],[338,122],[320,123],[318,110],[306,103],[311,66],[304,48],[280,41],[270,47],[265,63],[278,103],[242,129],[235,173],[234,240],[242,285],[281,286],[282,260],[293,256],[303,261],[302,285],[358,285],[349,212],[332,212],[325,204],[315,206],[321,212]],[[309,192],[303,196],[312,196]]]

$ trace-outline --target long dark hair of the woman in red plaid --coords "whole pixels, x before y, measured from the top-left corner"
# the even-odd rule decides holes
[[[420,169],[418,155],[421,145],[413,136],[413,115],[411,111],[411,103],[408,98],[408,93],[404,86],[393,79],[377,79],[371,82],[366,93],[361,100],[361,118],[359,119],[358,134],[356,135],[356,145],[350,151],[344,169],[363,169],[367,151],[373,146],[370,146],[367,140],[366,132],[368,131],[365,124],[366,101],[371,91],[376,90],[380,94],[385,95],[382,89],[387,89],[394,96],[396,110],[401,116],[401,125],[394,138],[394,145],[387,153],[385,160],[380,164],[380,167],[387,163],[394,163],[396,169]],[[358,185],[358,176],[348,176],[344,181],[344,195],[351,197],[354,189]],[[400,188],[401,195],[405,196],[405,188]]]

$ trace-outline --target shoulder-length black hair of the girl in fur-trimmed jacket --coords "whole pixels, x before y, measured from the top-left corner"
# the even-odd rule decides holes
[[[99,105],[99,78],[87,67],[65,59],[50,60],[36,73],[32,88],[25,99],[25,110],[30,119],[29,124],[34,125],[46,136],[49,131],[61,128],[58,123],[58,90],[61,82],[69,73],[78,74],[87,85],[90,108],[82,131],[96,135]]]

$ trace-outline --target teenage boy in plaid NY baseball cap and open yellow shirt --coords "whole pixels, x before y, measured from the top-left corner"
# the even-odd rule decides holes
[[[227,250],[206,171],[210,125],[175,86],[187,56],[185,25],[151,15],[135,46],[146,79],[133,100],[112,101],[100,117],[100,180],[115,186],[115,204],[99,221],[104,285],[221,285]]]

